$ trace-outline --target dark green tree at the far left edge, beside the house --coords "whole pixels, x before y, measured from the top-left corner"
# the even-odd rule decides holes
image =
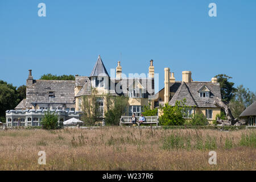
[[[0,80],[0,121],[5,122],[5,111],[14,109],[18,101],[16,87]]]

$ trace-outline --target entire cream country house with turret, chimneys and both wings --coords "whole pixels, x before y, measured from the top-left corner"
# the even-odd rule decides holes
[[[170,68],[164,68],[164,88],[154,93],[154,65],[150,60],[147,76],[129,76],[122,73],[120,61],[113,74],[106,68],[98,56],[90,76],[75,76],[75,80],[34,80],[31,70],[27,78],[26,99],[15,110],[6,111],[7,126],[40,126],[44,112],[55,111],[59,122],[70,118],[80,118],[84,96],[96,94],[101,118],[107,109],[107,96],[129,97],[129,110],[126,115],[140,115],[143,106],[151,109],[159,105],[175,105],[176,101],[186,98],[191,106],[188,114],[203,113],[209,121],[220,114],[221,109],[213,104],[214,98],[221,98],[220,84],[217,78],[211,81],[193,81],[190,71],[182,72],[182,81],[176,81]],[[96,92],[92,93],[92,90]],[[162,114],[159,111],[159,115]]]

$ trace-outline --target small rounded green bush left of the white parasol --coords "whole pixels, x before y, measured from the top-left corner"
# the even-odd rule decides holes
[[[46,130],[55,130],[57,129],[59,126],[59,117],[57,114],[51,112],[51,111],[46,111],[44,113],[44,117],[42,118],[42,126],[43,129]]]

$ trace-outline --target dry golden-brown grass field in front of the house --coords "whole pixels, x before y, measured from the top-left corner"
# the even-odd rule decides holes
[[[208,163],[217,152],[217,165]],[[46,165],[38,152],[46,152]],[[0,170],[255,170],[256,131],[103,127],[0,131]]]

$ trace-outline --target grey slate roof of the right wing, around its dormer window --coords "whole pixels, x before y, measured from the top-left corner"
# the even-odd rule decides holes
[[[210,97],[209,98],[200,98],[198,90],[203,86],[207,86],[210,90]],[[220,92],[220,84],[219,83],[212,83],[212,82],[175,82],[170,86],[170,90],[176,90],[174,96],[171,98],[169,105],[174,106],[177,100],[183,100],[186,98],[188,106],[196,106],[196,107],[213,107],[216,108],[213,104],[214,97],[221,98]]]

